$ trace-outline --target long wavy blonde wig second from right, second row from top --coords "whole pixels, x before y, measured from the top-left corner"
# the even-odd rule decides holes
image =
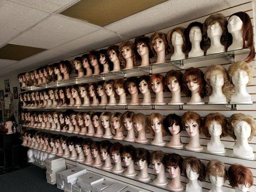
[[[234,93],[234,86],[231,84],[228,73],[226,69],[221,65],[211,65],[206,68],[205,72],[205,80],[206,80],[206,93],[207,96],[212,94],[212,87],[210,85],[210,78],[213,75],[214,71],[219,71],[222,73],[224,78],[224,84],[222,86],[222,93],[226,96],[227,101],[230,101],[231,95]]]

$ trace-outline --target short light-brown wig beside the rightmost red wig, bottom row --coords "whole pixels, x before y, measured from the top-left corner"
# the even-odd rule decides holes
[[[224,180],[228,179],[228,174],[224,163],[216,159],[207,163],[206,174],[208,177],[213,175],[214,177],[223,177]]]

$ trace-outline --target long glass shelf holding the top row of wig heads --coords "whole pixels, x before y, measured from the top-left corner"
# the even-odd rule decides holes
[[[215,54],[210,54],[205,56],[199,56],[194,58],[188,58],[184,60],[170,61],[169,59],[167,60],[167,62],[164,62],[164,63],[151,63],[148,66],[135,66],[133,69],[127,69],[127,70],[122,69],[121,71],[117,71],[117,72],[102,73],[98,75],[91,75],[91,76],[86,76],[81,78],[71,78],[70,80],[56,81],[56,82],[51,82],[49,84],[40,84],[37,86],[22,87],[22,89],[33,91],[33,90],[40,90],[45,88],[91,83],[91,82],[97,82],[102,80],[126,78],[126,77],[133,76],[135,72],[141,72],[141,75],[153,74],[154,70],[156,69],[161,69],[162,72],[167,72],[169,71],[168,68],[170,68],[170,66],[176,66],[180,69],[188,69],[190,67],[193,67],[191,63],[205,62],[205,65],[207,66],[208,60],[219,59],[219,58],[227,58],[229,61],[234,62],[236,56],[242,55],[242,54],[248,54],[249,52],[250,52],[250,49],[245,48],[245,49],[215,53]]]

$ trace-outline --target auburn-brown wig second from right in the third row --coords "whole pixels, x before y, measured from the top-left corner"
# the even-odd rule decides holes
[[[210,138],[211,135],[209,133],[209,127],[213,121],[216,121],[219,123],[219,125],[221,125],[222,133],[220,135],[220,138],[228,136],[228,132],[227,132],[228,120],[226,120],[225,116],[220,113],[209,113],[207,116],[205,116],[203,120],[203,126],[201,127],[201,132],[207,138]]]

